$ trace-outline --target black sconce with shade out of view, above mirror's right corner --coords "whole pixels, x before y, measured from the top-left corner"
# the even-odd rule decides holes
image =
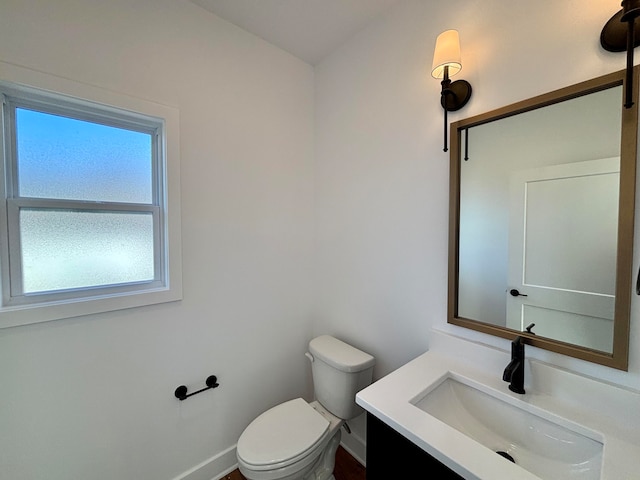
[[[608,52],[627,52],[627,77],[624,94],[625,108],[633,105],[633,49],[640,45],[640,0],[622,0],[622,10],[605,24],[600,44]]]

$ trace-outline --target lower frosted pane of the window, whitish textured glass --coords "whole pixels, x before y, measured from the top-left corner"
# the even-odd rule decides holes
[[[151,281],[149,214],[23,209],[24,293]]]

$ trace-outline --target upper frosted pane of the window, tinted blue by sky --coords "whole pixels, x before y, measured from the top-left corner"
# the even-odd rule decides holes
[[[151,204],[152,135],[16,108],[20,196]]]

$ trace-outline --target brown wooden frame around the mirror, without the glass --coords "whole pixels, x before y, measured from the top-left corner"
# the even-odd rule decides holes
[[[460,262],[460,175],[464,148],[462,137],[469,128],[477,127],[496,120],[522,114],[556,103],[589,95],[608,88],[624,85],[625,71],[604,75],[592,80],[539,95],[528,100],[514,103],[481,115],[470,117],[451,124],[450,148],[450,186],[449,186],[449,285],[448,285],[448,323],[480,331],[486,334],[513,339],[523,336],[529,345],[561,353],[571,357],[606,365],[619,370],[627,370],[629,357],[629,326],[631,292],[633,286],[633,236],[635,215],[636,158],[638,141],[638,73],[634,68],[634,105],[621,111],[620,140],[620,190],[618,202],[618,239],[616,257],[615,313],[613,321],[612,352],[602,352],[579,345],[561,342],[552,338],[537,336],[493,325],[488,322],[459,316],[459,262]],[[465,138],[467,135],[464,135]]]

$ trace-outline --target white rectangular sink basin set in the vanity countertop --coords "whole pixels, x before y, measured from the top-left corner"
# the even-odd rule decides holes
[[[602,436],[453,373],[413,405],[544,480],[599,480]]]

